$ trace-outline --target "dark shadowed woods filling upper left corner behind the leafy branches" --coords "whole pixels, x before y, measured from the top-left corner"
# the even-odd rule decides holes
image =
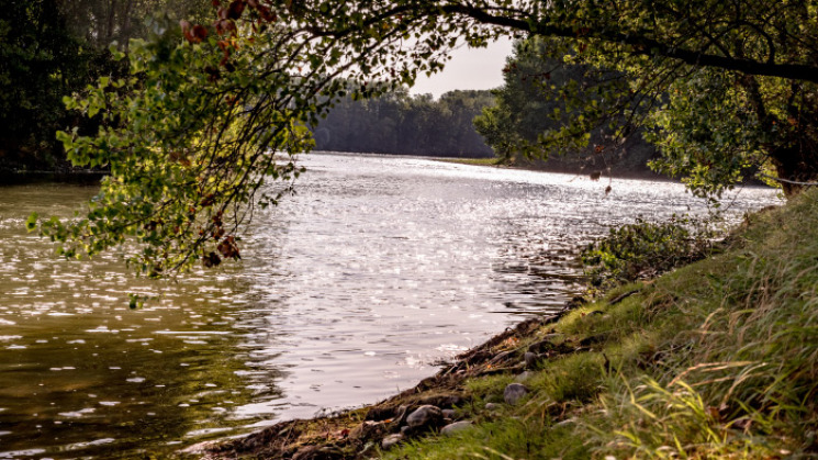
[[[211,12],[208,0],[5,0],[0,2],[0,167],[61,169],[54,133],[76,126],[94,133],[99,120],[81,120],[61,100],[100,76],[127,75],[109,46],[148,38],[167,13]]]

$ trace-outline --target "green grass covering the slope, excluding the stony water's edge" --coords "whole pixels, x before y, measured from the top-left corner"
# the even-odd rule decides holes
[[[468,383],[473,428],[392,459],[818,458],[818,193],[748,216],[722,254],[618,288],[531,339],[591,345]],[[610,304],[619,294],[634,295]]]

